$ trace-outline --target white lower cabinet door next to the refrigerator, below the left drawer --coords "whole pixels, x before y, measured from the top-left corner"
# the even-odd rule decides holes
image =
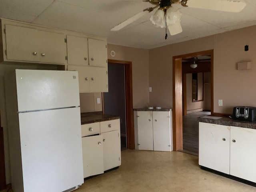
[[[82,137],[82,153],[84,178],[104,172],[102,135]]]

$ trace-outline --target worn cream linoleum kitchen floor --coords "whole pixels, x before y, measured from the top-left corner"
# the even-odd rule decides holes
[[[190,154],[123,150],[117,170],[86,180],[74,192],[256,192],[256,187],[201,170]]]

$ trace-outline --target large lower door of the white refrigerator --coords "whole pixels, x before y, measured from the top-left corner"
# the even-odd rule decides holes
[[[19,114],[24,192],[84,183],[80,108]]]

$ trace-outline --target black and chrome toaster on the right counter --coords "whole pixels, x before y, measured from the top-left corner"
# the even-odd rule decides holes
[[[256,121],[256,107],[237,106],[233,109],[233,119]]]

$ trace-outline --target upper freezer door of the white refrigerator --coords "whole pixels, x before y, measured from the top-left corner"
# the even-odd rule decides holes
[[[16,69],[18,111],[80,106],[78,72]]]

